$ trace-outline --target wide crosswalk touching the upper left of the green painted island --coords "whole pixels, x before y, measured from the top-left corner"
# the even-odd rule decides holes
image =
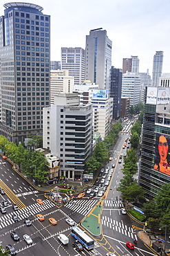
[[[65,207],[86,216],[94,208],[94,205],[96,205],[97,202],[98,200],[74,200],[66,203]]]

